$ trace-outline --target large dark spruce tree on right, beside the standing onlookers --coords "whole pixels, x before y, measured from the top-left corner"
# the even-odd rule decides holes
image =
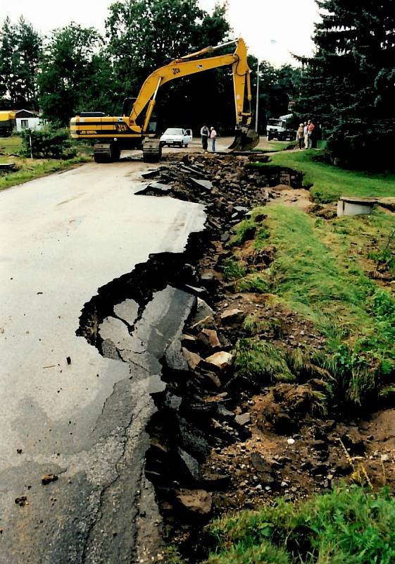
[[[333,161],[386,166],[395,140],[394,1],[316,2],[322,20],[299,111],[327,128]]]

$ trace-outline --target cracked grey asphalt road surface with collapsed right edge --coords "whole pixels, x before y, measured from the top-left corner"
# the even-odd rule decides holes
[[[75,334],[98,288],[149,253],[182,251],[203,227],[196,204],[134,195],[145,168],[85,164],[0,193],[1,564],[154,556],[159,516],[142,472],[150,371]],[[152,331],[190,305],[171,288],[156,300]],[[102,331],[117,340],[111,319]],[[47,473],[56,482],[43,485]]]

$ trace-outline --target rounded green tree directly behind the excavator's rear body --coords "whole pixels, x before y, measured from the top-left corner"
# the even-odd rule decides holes
[[[77,111],[112,108],[112,70],[101,54],[103,38],[93,27],[71,23],[44,44],[39,98],[44,118],[67,125]]]

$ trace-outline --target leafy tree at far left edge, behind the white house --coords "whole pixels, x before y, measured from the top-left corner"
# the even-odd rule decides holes
[[[0,96],[11,106],[37,109],[37,67],[42,40],[23,17],[6,18],[0,30]]]

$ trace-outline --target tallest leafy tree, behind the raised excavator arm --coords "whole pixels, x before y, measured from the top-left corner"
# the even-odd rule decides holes
[[[156,68],[224,41],[230,30],[225,15],[225,4],[215,6],[210,16],[199,8],[197,0],[127,0],[112,4],[106,35],[116,92],[121,97],[137,95],[144,80]],[[197,128],[202,121],[223,121],[229,106],[226,79],[226,71],[215,69],[161,88],[157,109],[162,116],[162,128],[167,125]]]

